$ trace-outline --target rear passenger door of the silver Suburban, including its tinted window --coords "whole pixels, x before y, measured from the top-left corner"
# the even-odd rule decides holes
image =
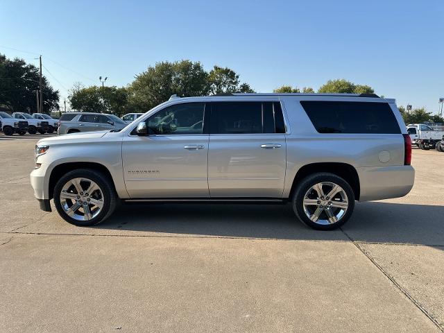
[[[280,103],[241,101],[210,104],[210,196],[281,198],[286,144]]]

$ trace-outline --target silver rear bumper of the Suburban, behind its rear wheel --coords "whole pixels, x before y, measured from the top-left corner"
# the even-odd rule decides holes
[[[415,181],[411,165],[358,168],[359,201],[400,198],[409,193]]]

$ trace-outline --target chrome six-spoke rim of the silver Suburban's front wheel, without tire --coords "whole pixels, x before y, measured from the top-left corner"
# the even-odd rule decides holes
[[[103,208],[103,192],[87,178],[73,178],[60,191],[60,204],[65,213],[76,221],[89,221]]]

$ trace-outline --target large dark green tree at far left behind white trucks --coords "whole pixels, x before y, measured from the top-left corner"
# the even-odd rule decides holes
[[[11,112],[37,112],[36,91],[39,89],[39,70],[22,59],[10,60],[0,54],[0,106]],[[43,110],[58,110],[59,92],[43,81]]]

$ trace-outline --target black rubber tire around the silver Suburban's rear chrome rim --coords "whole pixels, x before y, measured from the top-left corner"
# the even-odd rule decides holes
[[[305,214],[304,205],[303,205],[305,194],[307,193],[307,191],[309,191],[311,187],[318,184],[319,182],[332,182],[336,185],[339,185],[340,187],[342,187],[343,191],[347,196],[348,199],[347,210],[345,211],[345,214],[343,214],[343,216],[341,216],[339,220],[334,223],[329,223],[329,224],[321,224],[321,222],[317,223],[311,221],[311,219],[309,219],[309,217]],[[325,201],[328,202],[328,200]],[[343,180],[343,178],[336,176],[333,173],[314,173],[302,179],[298,183],[296,191],[293,194],[293,198],[291,199],[291,203],[293,205],[293,212],[296,214],[298,219],[300,219],[300,221],[308,225],[310,228],[316,230],[334,230],[336,228],[341,227],[341,225],[343,225],[345,222],[348,221],[348,219],[350,219],[350,216],[352,215],[352,212],[355,209],[355,194],[353,193],[352,187],[350,187],[348,182]],[[318,203],[321,203],[321,200],[319,200]],[[333,208],[333,209],[340,210],[339,208]],[[321,212],[320,217],[321,216],[327,217],[327,213],[325,212],[325,210]]]

